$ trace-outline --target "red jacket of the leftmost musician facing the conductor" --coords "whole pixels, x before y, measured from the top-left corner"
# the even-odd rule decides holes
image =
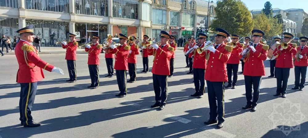
[[[78,48],[78,42],[76,41],[69,41],[67,45],[62,44],[62,48],[66,48],[66,60],[76,60],[76,50]]]

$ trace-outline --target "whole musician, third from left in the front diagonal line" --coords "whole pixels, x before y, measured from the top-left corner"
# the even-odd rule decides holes
[[[127,57],[129,55],[130,47],[126,44],[128,39],[124,34],[120,33],[120,45],[115,46],[114,44],[110,45],[113,49],[111,53],[115,53],[115,75],[118,82],[120,94],[115,96],[125,97],[127,94],[126,86],[126,71],[128,71],[128,62]]]

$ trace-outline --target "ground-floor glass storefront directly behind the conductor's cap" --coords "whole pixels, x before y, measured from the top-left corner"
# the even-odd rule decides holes
[[[41,38],[41,46],[61,46],[55,43],[69,38],[68,22],[27,19],[26,26],[28,25],[34,26],[35,35]]]

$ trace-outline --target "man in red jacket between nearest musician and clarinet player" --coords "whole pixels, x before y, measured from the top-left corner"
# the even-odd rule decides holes
[[[227,62],[228,85],[226,86],[226,88],[232,87],[232,89],[235,89],[236,86],[238,65],[240,64],[239,56],[243,51],[243,46],[244,46],[244,44],[238,42],[239,37],[240,36],[236,34],[231,35],[232,42],[236,43],[236,47],[233,48],[231,56]],[[232,71],[233,71],[233,82],[232,82]]]

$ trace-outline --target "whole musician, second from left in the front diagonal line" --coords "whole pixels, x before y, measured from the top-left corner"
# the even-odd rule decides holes
[[[100,37],[93,34],[91,46],[87,44],[84,48],[88,52],[88,67],[91,77],[91,85],[88,88],[96,89],[99,86],[99,54],[102,51],[102,45],[99,44]]]

